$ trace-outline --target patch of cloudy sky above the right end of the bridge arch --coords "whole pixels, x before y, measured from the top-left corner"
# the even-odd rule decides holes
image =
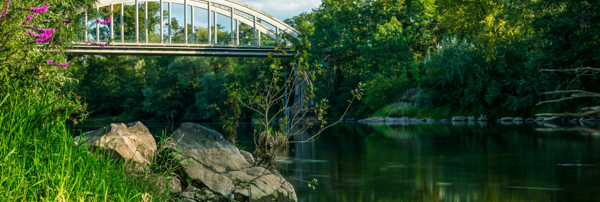
[[[242,4],[257,8],[280,20],[289,19],[304,12],[310,12],[321,5],[320,0],[284,1],[284,0],[237,0]]]

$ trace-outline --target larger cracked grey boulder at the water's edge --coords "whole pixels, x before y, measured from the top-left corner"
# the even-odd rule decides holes
[[[169,143],[173,157],[181,163],[183,179],[190,185],[206,188],[184,191],[184,198],[210,201],[296,201],[292,185],[278,173],[253,167],[238,148],[217,131],[185,123]],[[198,191],[200,190],[200,191]],[[193,194],[194,193],[194,194]],[[193,194],[193,197],[192,197]],[[183,194],[182,194],[183,195]]]

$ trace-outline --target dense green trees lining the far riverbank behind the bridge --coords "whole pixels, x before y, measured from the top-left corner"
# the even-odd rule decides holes
[[[597,68],[599,7],[598,0],[323,0],[320,7],[286,23],[305,33],[313,44],[310,60],[323,63],[325,79],[317,84],[323,89],[318,96],[332,100],[334,116],[343,111],[342,104],[350,98],[347,92],[359,82],[367,84],[365,98],[354,104],[352,117],[365,117],[398,102],[451,108],[453,115],[527,116],[572,106],[535,107],[541,92],[598,89],[595,77],[542,73],[540,69]],[[245,38],[251,38],[251,28],[241,29]],[[233,79],[255,82],[257,78],[250,75],[257,74],[251,72],[264,68],[260,59],[85,60],[89,61],[82,74],[125,71],[119,76],[98,74],[106,76],[95,78],[103,83],[89,84],[119,89],[107,91],[115,96],[115,103],[96,105],[98,109],[112,114],[127,106],[125,114],[160,119],[214,119],[208,106],[223,105],[220,84]],[[114,62],[103,65],[97,60]],[[105,69],[94,70],[100,66]],[[110,66],[114,70],[106,69]],[[131,81],[127,87],[115,88],[125,78]],[[81,88],[80,94],[88,91]]]

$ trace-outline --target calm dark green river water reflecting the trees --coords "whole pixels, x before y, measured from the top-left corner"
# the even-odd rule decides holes
[[[220,124],[202,125],[223,131]],[[155,136],[172,130],[149,128]],[[292,181],[299,201],[600,201],[599,127],[560,128],[345,124],[316,142],[291,145],[278,163],[286,178],[319,181],[314,190]],[[250,152],[252,131],[250,125],[239,131]]]

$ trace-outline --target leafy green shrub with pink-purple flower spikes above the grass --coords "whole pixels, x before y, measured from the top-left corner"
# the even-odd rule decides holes
[[[73,41],[73,33],[83,29],[71,19],[80,19],[82,5],[91,7],[93,2],[0,0],[0,81],[29,88],[75,82],[69,77],[72,63],[65,61],[62,50]]]

